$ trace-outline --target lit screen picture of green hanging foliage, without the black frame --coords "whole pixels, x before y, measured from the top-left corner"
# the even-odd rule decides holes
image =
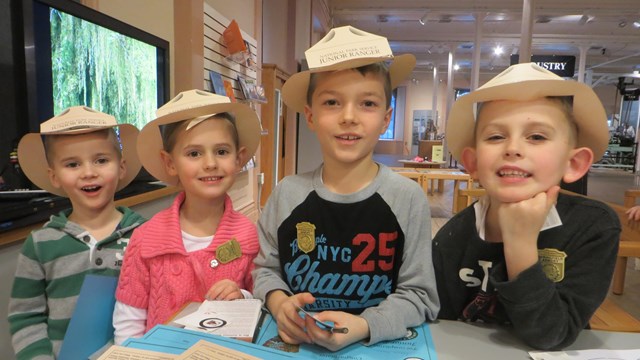
[[[138,128],[154,118],[155,46],[54,8],[49,19],[54,114],[86,105]]]

